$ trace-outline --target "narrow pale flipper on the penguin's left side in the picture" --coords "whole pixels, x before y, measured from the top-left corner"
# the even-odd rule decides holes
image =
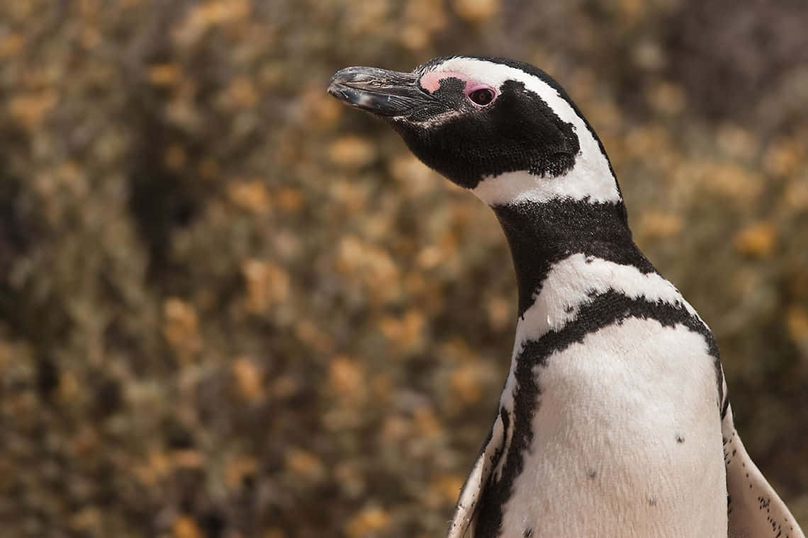
[[[496,459],[502,450],[505,440],[505,433],[502,419],[498,416],[494,421],[494,426],[488,434],[486,442],[482,444],[480,455],[474,461],[468,478],[460,490],[460,497],[457,498],[452,520],[449,522],[446,538],[463,538],[465,532],[471,526],[477,511],[477,503],[482,495],[482,489],[486,486],[491,469],[496,465]]]

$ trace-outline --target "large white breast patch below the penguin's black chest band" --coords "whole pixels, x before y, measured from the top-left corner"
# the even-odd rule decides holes
[[[726,536],[713,357],[686,327],[625,319],[551,355],[503,536]]]

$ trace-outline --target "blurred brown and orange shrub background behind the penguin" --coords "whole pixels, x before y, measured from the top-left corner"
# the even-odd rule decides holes
[[[511,56],[604,141],[808,525],[808,4],[0,2],[0,535],[442,536],[506,376],[494,216],[326,95]]]

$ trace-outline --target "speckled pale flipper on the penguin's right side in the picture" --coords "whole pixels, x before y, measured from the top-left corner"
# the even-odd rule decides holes
[[[722,435],[729,538],[805,538],[789,508],[743,447],[729,405],[722,420]]]

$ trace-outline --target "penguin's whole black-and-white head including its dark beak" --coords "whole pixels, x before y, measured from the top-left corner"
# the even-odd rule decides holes
[[[328,91],[388,121],[424,164],[492,206],[620,201],[600,140],[562,87],[532,65],[452,56],[411,73],[349,67]]]

